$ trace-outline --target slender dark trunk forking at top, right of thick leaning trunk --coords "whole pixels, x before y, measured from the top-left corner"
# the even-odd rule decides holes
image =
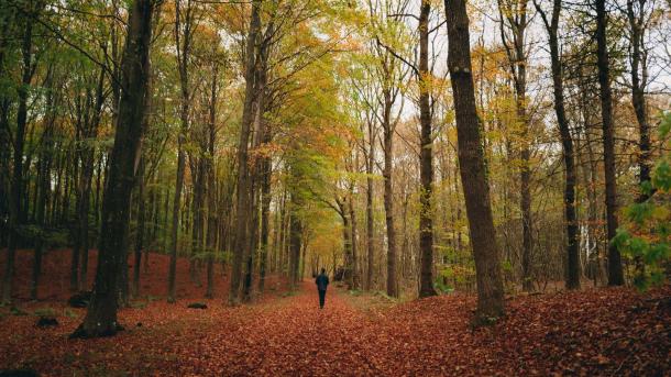
[[[554,93],[554,113],[559,124],[559,134],[564,157],[564,220],[566,232],[566,264],[565,264],[565,286],[566,289],[580,289],[580,239],[578,233],[578,214],[575,213],[575,158],[573,152],[573,137],[566,119],[564,108],[563,75],[561,68],[561,57],[559,53],[559,20],[561,13],[561,0],[553,0],[552,18],[548,20],[546,13],[538,2],[536,9],[541,14],[550,43],[550,59],[552,70],[552,89]]]

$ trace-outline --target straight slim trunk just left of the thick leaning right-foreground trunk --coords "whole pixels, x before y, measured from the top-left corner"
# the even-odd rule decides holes
[[[436,296],[433,289],[433,140],[431,135],[431,104],[429,80],[429,15],[431,3],[421,2],[419,13],[419,123],[420,152],[419,168],[421,192],[419,197],[419,250],[421,267],[419,274],[419,297]]]

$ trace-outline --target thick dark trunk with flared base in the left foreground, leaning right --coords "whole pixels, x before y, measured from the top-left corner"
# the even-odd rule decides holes
[[[86,317],[73,337],[109,336],[120,329],[117,322],[118,276],[128,245],[131,191],[148,98],[148,55],[154,7],[153,0],[135,0],[129,12],[128,36],[121,63],[119,117],[102,199],[98,268]]]

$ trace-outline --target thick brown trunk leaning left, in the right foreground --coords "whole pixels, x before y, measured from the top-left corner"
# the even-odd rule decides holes
[[[448,68],[457,114],[459,167],[477,280],[475,322],[482,323],[503,315],[504,289],[485,174],[481,123],[475,109],[466,3],[465,0],[444,0],[444,4],[449,41]]]

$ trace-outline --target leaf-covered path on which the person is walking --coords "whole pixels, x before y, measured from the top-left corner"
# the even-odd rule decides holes
[[[215,367],[222,374],[256,376],[380,374],[383,361],[375,357],[380,350],[370,320],[340,295],[330,289],[320,310],[314,285],[305,282],[296,296],[260,308],[233,332],[218,331],[184,350],[207,366],[184,372],[207,375]]]

